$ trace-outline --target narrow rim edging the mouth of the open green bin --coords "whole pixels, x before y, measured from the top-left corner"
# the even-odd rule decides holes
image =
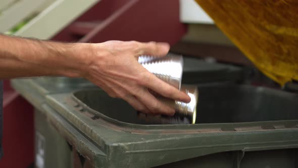
[[[223,87],[240,87],[240,88],[254,88],[254,86],[250,85],[229,85],[229,86],[223,86]],[[258,91],[262,90],[268,90],[270,93],[278,92],[281,94],[281,96],[295,96],[298,98],[298,94],[295,93],[289,93],[280,91],[277,89],[270,89],[270,88],[264,88],[264,87],[255,87]],[[143,131],[158,131],[158,130],[173,130],[173,134],[177,134],[179,132],[184,133],[185,130],[188,130],[189,132],[235,132],[236,130],[242,130],[242,131],[258,131],[258,130],[264,130],[262,129],[262,126],[268,127],[268,125],[274,126],[274,125],[291,125],[292,127],[285,127],[283,129],[298,129],[297,127],[293,127],[294,125],[298,125],[298,119],[293,120],[269,120],[269,121],[252,121],[252,122],[226,122],[226,123],[196,123],[196,124],[136,124],[136,123],[128,123],[119,121],[116,119],[113,119],[109,116],[106,116],[102,114],[99,111],[96,111],[88,106],[86,106],[82,101],[80,101],[78,98],[74,96],[74,93],[79,91],[87,91],[87,90],[98,90],[98,89],[82,89],[82,90],[76,90],[71,93],[71,100],[73,101],[73,105],[79,105],[80,108],[76,109],[84,109],[88,113],[92,113],[96,116],[98,120],[104,121],[103,125],[107,126],[109,129],[114,128],[116,130],[129,130],[129,132],[135,132],[135,133],[142,133]],[[102,90],[103,91],[103,90]],[[110,127],[114,125],[114,127]],[[116,128],[117,127],[117,128]],[[237,128],[252,128],[250,129],[237,129]],[[224,131],[223,131],[224,130]],[[268,129],[266,129],[268,130]],[[269,129],[270,130],[270,129]],[[273,129],[278,130],[278,129]],[[171,133],[171,131],[169,132]]]

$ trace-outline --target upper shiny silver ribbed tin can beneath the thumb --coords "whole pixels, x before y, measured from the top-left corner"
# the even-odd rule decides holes
[[[183,58],[168,54],[166,57],[140,56],[138,62],[149,72],[180,90]]]

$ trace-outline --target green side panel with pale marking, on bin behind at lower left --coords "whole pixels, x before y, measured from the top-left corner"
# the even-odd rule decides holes
[[[35,110],[35,167],[71,167],[71,146],[46,119],[44,112]]]

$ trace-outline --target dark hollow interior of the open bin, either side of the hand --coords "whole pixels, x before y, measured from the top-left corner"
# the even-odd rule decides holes
[[[298,95],[252,86],[199,86],[196,123],[253,122],[298,119]],[[82,90],[76,99],[110,118],[145,124],[121,99],[102,90]]]

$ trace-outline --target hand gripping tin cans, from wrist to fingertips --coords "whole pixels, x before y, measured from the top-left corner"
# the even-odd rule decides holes
[[[170,49],[167,43],[106,41],[90,45],[91,53],[84,56],[88,60],[84,77],[109,96],[124,99],[143,113],[166,115],[173,115],[175,110],[158,101],[148,90],[174,100],[190,101],[185,93],[162,81],[138,63],[141,55],[165,56]]]

